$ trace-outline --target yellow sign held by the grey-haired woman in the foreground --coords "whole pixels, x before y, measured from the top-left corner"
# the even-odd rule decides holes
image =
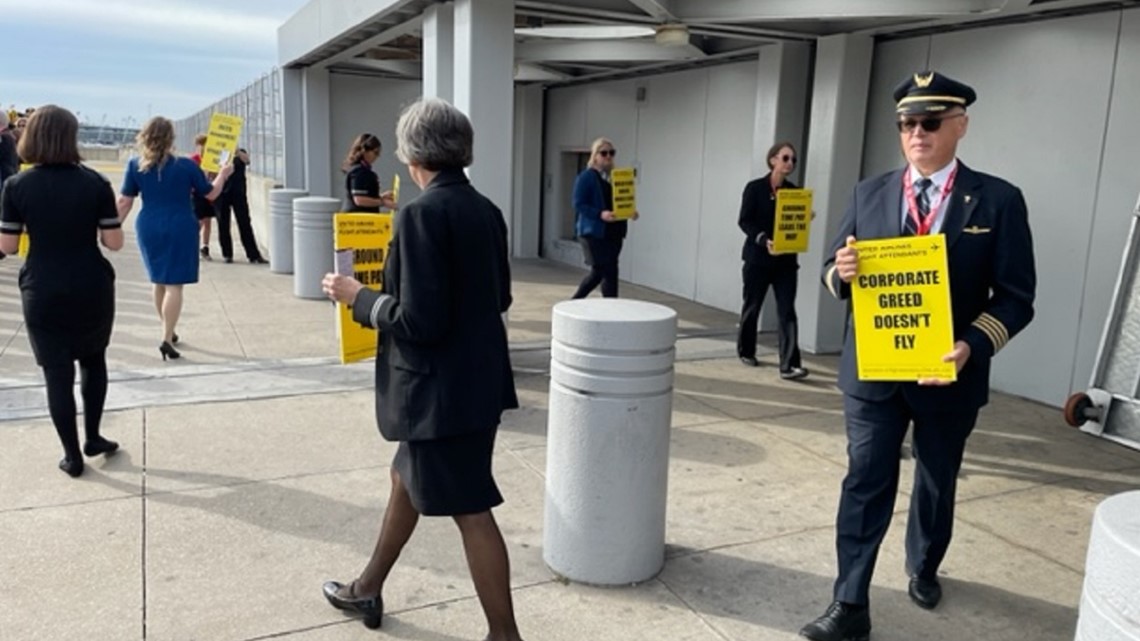
[[[392,240],[392,216],[388,213],[337,213],[333,217],[336,273],[352,276],[364,286],[380,290],[384,284],[384,260]],[[376,330],[352,319],[352,308],[336,303],[336,336],[341,363],[376,356]]]

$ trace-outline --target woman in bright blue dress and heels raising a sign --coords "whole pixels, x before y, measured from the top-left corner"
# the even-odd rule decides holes
[[[162,320],[162,359],[179,358],[174,326],[182,313],[182,285],[198,282],[198,220],[193,196],[214,200],[234,172],[227,164],[211,185],[194,161],[173,155],[174,125],[156,116],[139,131],[138,157],[127,163],[119,196],[119,217],[127,216],[136,196],[142,209],[135,220],[142,265],[154,283],[154,307]]]

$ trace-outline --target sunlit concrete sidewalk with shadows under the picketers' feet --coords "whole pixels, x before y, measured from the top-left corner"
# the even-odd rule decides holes
[[[119,313],[105,433],[123,451],[81,479],[55,464],[39,371],[21,328],[18,260],[0,261],[0,639],[288,641],[481,639],[459,537],[423,519],[372,632],[331,609],[388,494],[370,364],[335,364],[332,306],[241,260],[187,289],[185,358],[163,363],[149,285],[128,238],[113,258]],[[781,381],[747,368],[734,315],[624,285],[677,309],[663,573],[627,589],[565,584],[542,560],[551,306],[579,273],[514,267],[513,359],[523,407],[499,432],[496,512],[530,641],[796,638],[830,601],[845,471],[834,362]],[[1092,510],[1140,485],[1140,454],[1072,431],[1053,408],[996,395],[970,440],[946,597],[906,598],[902,535],[912,464],[872,590],[874,639],[1069,641]]]

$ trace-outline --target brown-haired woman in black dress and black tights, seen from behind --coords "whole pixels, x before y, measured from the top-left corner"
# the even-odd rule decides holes
[[[35,167],[9,179],[0,194],[0,250],[14,253],[24,230],[31,243],[19,270],[24,322],[64,447],[59,469],[73,477],[83,473],[82,454],[119,448],[99,435],[115,270],[96,238],[112,251],[123,246],[115,194],[106,178],[80,164],[78,132],[79,121],[67,109],[36,109],[19,139],[19,155]],[[87,437],[82,454],[72,392],[76,360]]]

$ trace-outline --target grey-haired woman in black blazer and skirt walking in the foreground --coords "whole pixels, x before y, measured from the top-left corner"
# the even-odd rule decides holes
[[[473,131],[438,98],[405,109],[397,155],[423,193],[400,209],[383,287],[328,274],[324,289],[380,330],[376,420],[399,441],[380,539],[360,576],[324,586],[334,607],[377,627],[392,565],[424,516],[449,516],[463,536],[491,641],[519,641],[510,562],[491,508],[503,502],[491,477],[504,409],[519,406],[500,314],[511,306],[503,213],[471,186]]]

